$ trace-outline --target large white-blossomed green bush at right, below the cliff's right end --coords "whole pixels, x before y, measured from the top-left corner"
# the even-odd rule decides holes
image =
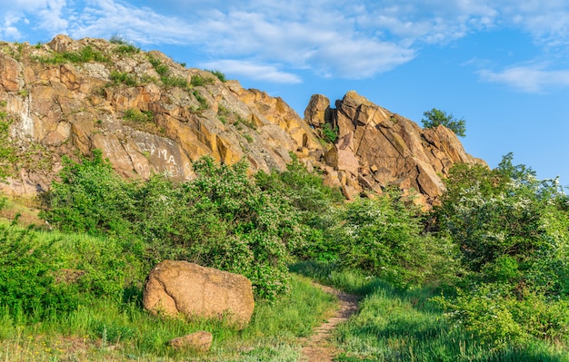
[[[464,266],[477,279],[514,286],[535,280],[532,288],[567,290],[558,267],[569,261],[562,251],[568,247],[569,222],[566,197],[555,182],[537,181],[508,154],[494,170],[457,165],[446,185],[435,220],[441,234],[461,248]]]

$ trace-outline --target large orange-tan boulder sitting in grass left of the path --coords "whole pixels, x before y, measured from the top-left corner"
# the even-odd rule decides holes
[[[228,318],[245,327],[255,300],[251,281],[187,261],[165,260],[150,272],[144,307],[155,313],[189,318]]]

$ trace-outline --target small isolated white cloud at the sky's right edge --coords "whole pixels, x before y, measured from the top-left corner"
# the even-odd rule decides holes
[[[525,93],[569,86],[569,70],[547,70],[543,64],[512,66],[502,72],[483,70],[480,76],[485,82],[504,83]]]

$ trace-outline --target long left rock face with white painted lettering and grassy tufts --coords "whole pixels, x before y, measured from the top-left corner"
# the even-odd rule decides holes
[[[95,148],[126,177],[166,172],[180,181],[193,177],[191,163],[204,155],[228,164],[245,158],[252,171],[270,171],[284,170],[290,152],[323,150],[283,100],[159,52],[125,54],[119,44],[65,35],[39,47],[0,45],[0,111],[14,120],[15,148],[39,147],[45,163],[43,170],[37,162],[18,164],[8,193],[45,190],[62,155]],[[105,58],[53,60],[85,49]]]

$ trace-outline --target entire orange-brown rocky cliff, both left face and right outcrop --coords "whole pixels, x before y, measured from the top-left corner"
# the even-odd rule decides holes
[[[335,109],[313,96],[303,120],[280,98],[103,39],[0,43],[0,102],[10,146],[1,187],[16,195],[46,190],[63,155],[93,149],[125,177],[166,172],[180,181],[204,155],[269,171],[295,153],[348,199],[394,184],[421,192],[425,204],[452,164],[479,161],[444,127],[422,130],[354,92]],[[334,144],[325,127],[337,131]]]

